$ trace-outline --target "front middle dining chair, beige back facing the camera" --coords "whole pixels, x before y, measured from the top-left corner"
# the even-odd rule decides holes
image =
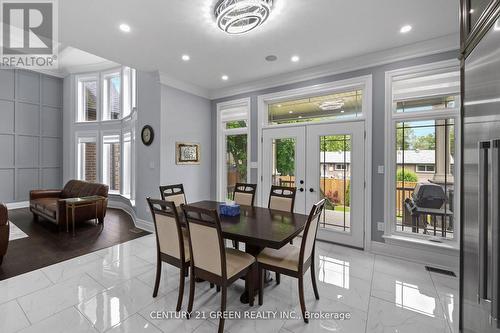
[[[252,255],[226,248],[222,237],[219,215],[216,210],[189,205],[181,206],[184,211],[191,250],[191,278],[189,279],[188,313],[193,310],[195,279],[201,278],[215,283],[222,289],[221,312],[226,311],[227,287],[240,277],[246,276],[249,304],[253,306],[254,288],[252,273],[256,268]],[[189,318],[189,317],[188,317]],[[219,332],[224,331],[224,316],[219,320]]]

